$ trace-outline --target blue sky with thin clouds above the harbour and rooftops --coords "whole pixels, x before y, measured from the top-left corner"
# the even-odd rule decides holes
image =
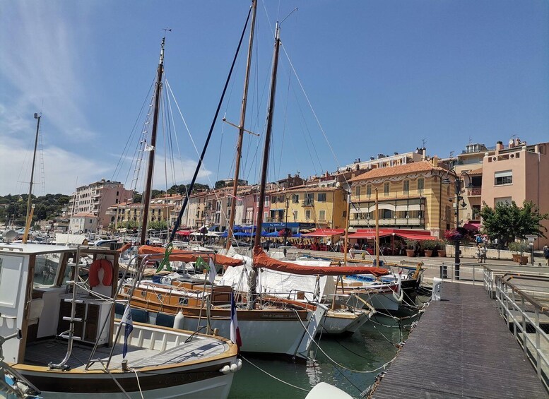
[[[187,184],[249,4],[0,0],[0,195],[28,191],[35,112],[35,193],[71,193],[98,179],[141,191],[145,161],[135,180],[132,161],[138,136],[150,131],[141,109],[163,35],[154,187]],[[259,181],[276,20],[284,21],[270,181],[423,143],[428,155],[447,157],[513,135],[549,141],[548,1],[259,0],[244,127],[260,136],[245,134],[240,174],[250,183]],[[240,119],[248,32],[203,184],[234,174],[237,131],[221,118]]]

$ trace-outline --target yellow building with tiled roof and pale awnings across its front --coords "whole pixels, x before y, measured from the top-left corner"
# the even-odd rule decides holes
[[[444,230],[454,226],[453,177],[448,176],[452,184],[442,184],[446,174],[433,158],[353,177],[350,227],[374,227],[377,189],[380,227],[428,230],[444,237]]]

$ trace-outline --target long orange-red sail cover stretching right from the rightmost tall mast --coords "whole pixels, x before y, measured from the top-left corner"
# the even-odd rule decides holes
[[[260,246],[254,247],[254,268],[266,268],[284,273],[300,275],[386,275],[389,270],[372,266],[302,266],[291,262],[270,258]]]

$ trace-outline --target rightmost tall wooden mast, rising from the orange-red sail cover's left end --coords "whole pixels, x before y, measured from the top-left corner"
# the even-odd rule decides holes
[[[275,46],[273,56],[273,73],[271,76],[271,96],[268,102],[267,131],[265,133],[265,145],[263,148],[263,164],[261,165],[261,184],[259,185],[259,203],[257,204],[257,228],[254,239],[254,247],[261,245],[261,227],[263,225],[263,208],[265,205],[265,185],[267,180],[268,150],[271,145],[271,131],[273,130],[274,99],[276,93],[276,72],[278,70],[278,52],[281,47],[280,25],[276,23]]]

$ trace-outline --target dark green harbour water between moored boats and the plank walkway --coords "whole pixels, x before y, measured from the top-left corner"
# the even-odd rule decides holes
[[[391,343],[399,343],[401,335],[399,324],[393,318],[377,315],[373,320],[395,327],[389,328],[375,323],[366,323],[350,337],[323,337],[320,340],[317,339],[317,343],[331,359],[348,369],[360,371],[377,369],[394,357],[396,347]],[[412,321],[408,319],[403,321],[403,324],[409,325]],[[409,328],[402,330],[403,340],[408,337],[408,332]],[[355,398],[360,398],[360,393],[370,386],[374,382],[375,376],[382,371],[358,373],[342,369],[333,364],[314,344],[309,352],[309,357],[316,359],[314,364],[293,364],[246,355],[244,357],[278,379],[305,388],[307,391],[317,383],[324,381],[343,389]],[[306,395],[307,392],[276,381],[243,359],[242,369],[235,374],[235,379],[232,381],[229,397],[305,398]]]

